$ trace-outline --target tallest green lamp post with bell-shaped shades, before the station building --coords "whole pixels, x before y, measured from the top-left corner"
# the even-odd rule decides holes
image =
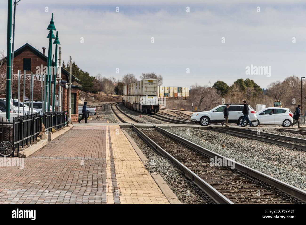
[[[47,38],[49,38],[49,47],[48,47],[48,60],[47,60],[47,67],[48,67],[48,74],[45,79],[45,102],[44,102],[44,110],[46,109],[46,103],[48,100],[48,111],[50,111],[50,97],[51,97],[51,71],[50,71],[50,66],[51,66],[51,55],[52,55],[52,38],[55,38],[53,31],[56,30],[53,22],[53,13],[52,13],[52,18],[50,21],[49,26],[47,27],[47,30],[49,30],[49,35]],[[48,86],[49,86],[49,92],[48,92]]]

